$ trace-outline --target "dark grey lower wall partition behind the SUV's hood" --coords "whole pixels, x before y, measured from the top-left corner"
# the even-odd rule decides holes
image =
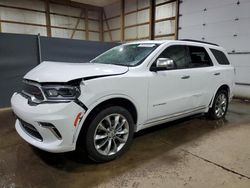
[[[10,97],[21,90],[22,77],[42,61],[85,63],[118,45],[97,41],[0,33],[0,108],[10,105]],[[60,64],[58,64],[60,66]]]

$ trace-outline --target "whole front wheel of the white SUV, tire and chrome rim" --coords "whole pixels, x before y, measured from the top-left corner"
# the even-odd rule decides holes
[[[85,139],[90,159],[110,161],[123,154],[132,142],[134,122],[123,107],[111,106],[100,111],[91,121]]]

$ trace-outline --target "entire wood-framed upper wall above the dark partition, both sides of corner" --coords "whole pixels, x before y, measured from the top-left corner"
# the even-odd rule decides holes
[[[177,37],[178,0],[118,0],[105,7],[63,2],[0,0],[0,32],[107,42]]]

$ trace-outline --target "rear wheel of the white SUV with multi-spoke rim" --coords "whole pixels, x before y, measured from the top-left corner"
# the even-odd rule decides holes
[[[210,119],[222,119],[225,117],[228,109],[228,92],[226,90],[219,90],[213,101],[213,106],[208,111]]]

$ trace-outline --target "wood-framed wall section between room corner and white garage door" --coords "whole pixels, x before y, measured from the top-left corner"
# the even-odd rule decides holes
[[[177,4],[176,0],[126,0],[105,6],[104,41],[175,39]]]

